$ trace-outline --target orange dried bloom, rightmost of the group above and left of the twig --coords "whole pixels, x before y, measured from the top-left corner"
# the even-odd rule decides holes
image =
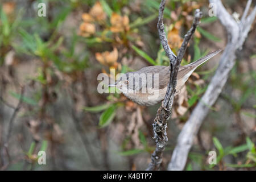
[[[117,13],[113,13],[110,19],[112,32],[122,32],[130,30],[128,16],[120,16]]]

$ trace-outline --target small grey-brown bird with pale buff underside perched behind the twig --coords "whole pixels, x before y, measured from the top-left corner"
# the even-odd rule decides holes
[[[177,73],[176,94],[188,80],[197,67],[217,55],[221,50],[209,53],[188,65],[180,66]],[[119,78],[114,85],[133,102],[139,105],[152,106],[164,99],[170,80],[170,66],[151,66],[135,72],[127,72],[125,77]]]

